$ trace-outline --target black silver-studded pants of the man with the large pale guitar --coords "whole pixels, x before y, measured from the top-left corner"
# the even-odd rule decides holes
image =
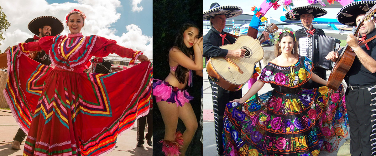
[[[226,104],[232,100],[241,98],[241,90],[227,91],[210,80],[213,97],[215,140],[217,141],[218,155],[223,155],[223,114]]]

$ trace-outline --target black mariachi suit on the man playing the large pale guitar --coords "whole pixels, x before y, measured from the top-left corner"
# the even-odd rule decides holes
[[[209,32],[203,37],[203,55],[206,58],[226,56],[228,50],[219,48],[222,45],[232,44],[235,42],[235,38],[230,36],[224,36],[224,32],[221,33],[211,28]],[[213,111],[214,111],[214,126],[215,126],[215,139],[217,141],[217,152],[219,155],[223,155],[223,114],[224,108],[229,101],[242,97],[241,90],[232,92],[221,88],[217,83],[213,82],[209,77],[209,82],[212,89],[213,98]]]

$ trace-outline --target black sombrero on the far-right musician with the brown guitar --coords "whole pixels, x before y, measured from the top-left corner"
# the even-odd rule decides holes
[[[356,17],[360,14],[367,13],[375,4],[376,1],[371,0],[355,1],[347,4],[337,13],[337,20],[344,25],[356,26]]]

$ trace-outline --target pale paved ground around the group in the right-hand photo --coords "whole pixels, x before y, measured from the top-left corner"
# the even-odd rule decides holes
[[[273,50],[274,46],[271,47],[263,47],[264,51],[266,50]],[[261,64],[264,67],[263,64]],[[327,77],[329,77],[330,71],[327,71]],[[203,153],[205,156],[218,156],[217,155],[217,145],[215,143],[215,131],[214,131],[214,114],[213,114],[213,105],[212,105],[212,94],[210,83],[208,80],[208,73],[206,73],[205,69],[203,72]],[[265,85],[261,88],[258,92],[258,95],[264,94],[268,91],[271,91],[270,84],[265,83]],[[246,94],[248,91],[248,84],[244,85],[242,88],[243,95]],[[350,137],[343,139],[340,142],[340,146]],[[338,148],[339,149],[339,148]],[[337,150],[338,150],[337,149]],[[320,153],[319,156],[337,156],[337,152],[327,153],[323,151]]]

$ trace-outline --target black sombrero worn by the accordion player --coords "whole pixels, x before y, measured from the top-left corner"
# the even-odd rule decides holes
[[[303,15],[306,13],[312,14],[313,18],[323,16],[327,13],[326,10],[317,6],[300,6],[300,7],[294,8],[293,12],[295,13],[295,17],[290,16],[290,13],[286,13],[285,18],[293,20],[293,21],[299,21],[300,15]]]

